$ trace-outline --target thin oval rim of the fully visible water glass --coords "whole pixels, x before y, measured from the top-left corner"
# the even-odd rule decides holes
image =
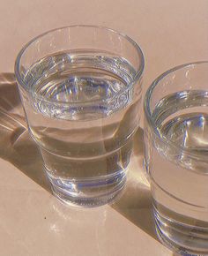
[[[53,32],[56,32],[58,30],[64,30],[64,29],[67,29],[67,28],[79,28],[79,27],[88,27],[88,28],[98,28],[100,30],[103,30],[103,31],[109,31],[113,34],[117,34],[117,35],[121,35],[124,39],[126,39],[127,41],[130,42],[130,44],[132,46],[134,46],[134,48],[137,50],[137,54],[139,56],[139,59],[140,59],[140,64],[136,70],[136,74],[134,76],[134,78],[132,79],[132,81],[130,82],[129,86],[128,87],[125,87],[123,88],[122,90],[120,90],[118,92],[118,94],[116,94],[115,96],[119,96],[120,94],[123,94],[125,91],[129,90],[131,87],[133,87],[135,85],[135,83],[137,82],[138,79],[140,79],[143,75],[143,72],[145,70],[145,56],[143,54],[143,51],[141,49],[141,47],[137,44],[136,41],[134,41],[133,39],[131,39],[127,34],[123,34],[122,32],[119,32],[119,31],[116,31],[112,28],[109,28],[107,26],[94,26],[94,25],[71,25],[71,26],[62,26],[62,27],[57,27],[57,28],[54,28],[54,29],[51,29],[51,30],[48,30],[47,32],[44,32],[42,34],[39,34],[35,37],[33,37],[32,40],[28,41],[23,47],[22,49],[20,49],[19,51],[19,54],[18,56],[16,57],[16,60],[15,60],[15,64],[14,64],[14,74],[15,74],[15,77],[17,79],[17,82],[19,83],[19,85],[21,87],[23,87],[28,93],[31,94],[31,89],[27,88],[26,87],[26,83],[24,82],[24,80],[21,78],[21,75],[20,75],[20,72],[19,72],[19,63],[20,63],[20,60],[21,60],[21,57],[24,55],[24,53],[26,52],[26,49],[29,48],[34,41],[37,41],[39,40],[41,37],[47,35],[47,34],[51,34]],[[114,97],[115,97],[114,96]],[[62,102],[62,101],[56,101],[54,99],[51,99],[51,100],[48,100],[46,99],[44,96],[41,96],[41,95],[35,95],[35,98],[40,100],[41,102],[48,102],[48,103],[54,103],[54,104],[64,104],[64,105],[76,105],[76,104],[79,104],[80,102],[82,103],[89,103],[89,102],[105,102],[107,101],[107,99],[97,99],[97,100],[89,100],[89,101],[77,101],[77,102]],[[113,99],[113,98],[111,98]]]

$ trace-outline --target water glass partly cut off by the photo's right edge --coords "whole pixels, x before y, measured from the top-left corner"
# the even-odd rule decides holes
[[[145,169],[160,240],[208,255],[208,62],[167,71],[147,90]]]

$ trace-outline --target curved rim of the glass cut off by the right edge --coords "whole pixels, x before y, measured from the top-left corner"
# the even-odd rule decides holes
[[[198,65],[198,64],[208,64],[208,60],[203,60],[203,61],[197,61],[197,62],[191,62],[191,63],[187,63],[187,64],[181,64],[181,65],[177,65],[172,69],[167,70],[166,72],[163,72],[162,74],[160,74],[160,76],[157,79],[154,79],[151,86],[148,87],[146,93],[145,93],[145,98],[144,98],[144,113],[145,113],[145,117],[146,120],[148,122],[148,125],[150,125],[153,134],[156,136],[157,139],[160,139],[160,141],[162,141],[162,143],[164,143],[165,145],[167,145],[168,147],[174,147],[177,150],[182,151],[183,153],[195,156],[195,157],[200,157],[199,154],[197,154],[197,149],[189,149],[187,147],[182,147],[182,146],[178,146],[175,144],[175,142],[173,142],[171,139],[167,139],[165,136],[162,136],[162,134],[159,132],[157,125],[155,124],[155,122],[152,120],[152,113],[151,113],[151,109],[150,109],[150,102],[152,99],[152,93],[154,91],[154,89],[157,87],[157,85],[160,83],[160,81],[162,79],[164,79],[165,77],[167,77],[168,74],[178,71],[178,70],[182,70],[183,68],[189,67],[191,65]]]

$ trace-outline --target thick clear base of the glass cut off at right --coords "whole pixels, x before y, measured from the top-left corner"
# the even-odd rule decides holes
[[[155,209],[154,217],[156,232],[163,245],[183,256],[208,255],[208,230],[197,230],[193,236],[196,231],[194,227],[180,226],[173,220],[166,220]]]

